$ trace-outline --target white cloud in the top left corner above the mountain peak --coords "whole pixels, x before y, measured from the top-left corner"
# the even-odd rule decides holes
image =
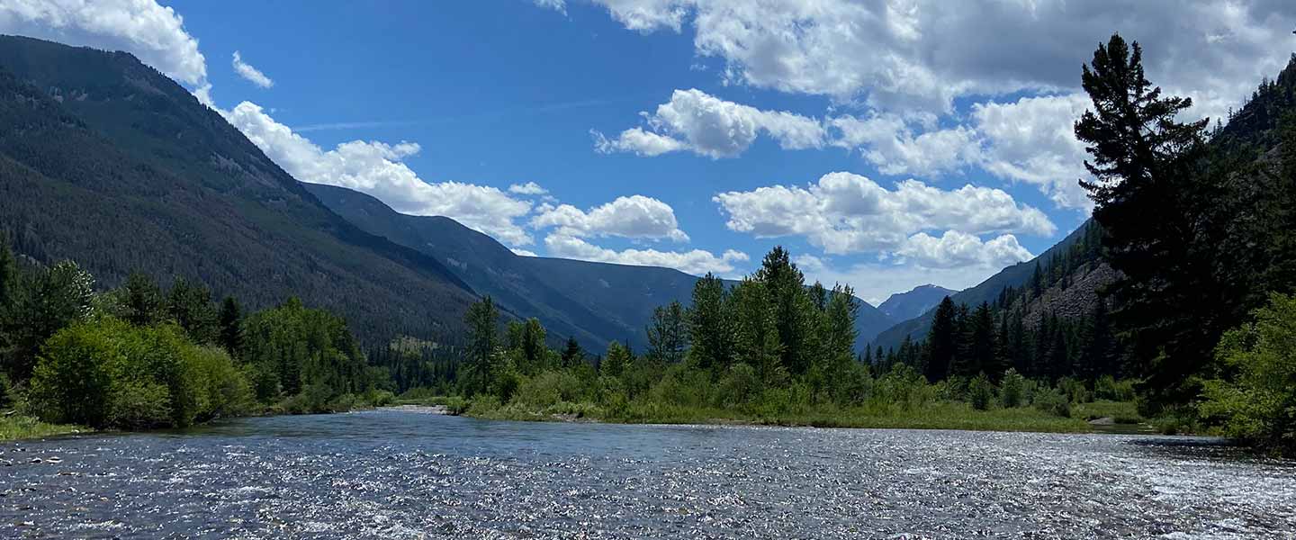
[[[193,87],[207,79],[206,60],[184,19],[153,0],[5,0],[0,32],[127,51]]]

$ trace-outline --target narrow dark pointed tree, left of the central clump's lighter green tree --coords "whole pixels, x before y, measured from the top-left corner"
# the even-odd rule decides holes
[[[734,321],[726,313],[728,291],[724,281],[710,272],[693,284],[693,304],[688,311],[692,360],[715,373],[726,369],[734,355]]]

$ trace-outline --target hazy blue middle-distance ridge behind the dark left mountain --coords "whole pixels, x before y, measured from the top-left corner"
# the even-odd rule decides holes
[[[653,308],[673,300],[687,306],[697,281],[670,268],[522,256],[448,218],[399,214],[346,188],[303,186],[359,228],[435,258],[509,312],[539,319],[550,335],[572,335],[596,351],[613,339],[643,350]],[[894,321],[859,304],[855,329],[863,346]]]

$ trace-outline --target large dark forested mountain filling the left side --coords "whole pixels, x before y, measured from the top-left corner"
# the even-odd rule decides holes
[[[201,278],[251,308],[298,295],[362,338],[452,338],[476,295],[437,259],[333,214],[216,111],[133,56],[0,36],[0,229],[101,286]]]

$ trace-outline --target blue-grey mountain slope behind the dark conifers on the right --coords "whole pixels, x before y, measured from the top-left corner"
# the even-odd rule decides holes
[[[968,304],[980,306],[982,302],[993,303],[1001,293],[1007,287],[1020,287],[1030,281],[1034,275],[1036,268],[1046,265],[1050,260],[1056,256],[1064,255],[1070,250],[1072,246],[1078,243],[1085,238],[1086,233],[1090,233],[1090,224],[1093,220],[1085,220],[1076,231],[1067,234],[1060,242],[1055,243],[1052,247],[1039,254],[1034,259],[1024,263],[1017,263],[1007,267],[994,276],[990,276],[985,281],[977,284],[975,287],[959,291],[950,297],[955,304]],[[937,300],[940,302],[940,300]],[[923,315],[902,321],[883,333],[877,334],[877,338],[872,341],[874,347],[899,347],[908,335],[914,341],[921,341],[927,338],[927,329],[932,325],[932,315],[934,309],[928,309]]]

